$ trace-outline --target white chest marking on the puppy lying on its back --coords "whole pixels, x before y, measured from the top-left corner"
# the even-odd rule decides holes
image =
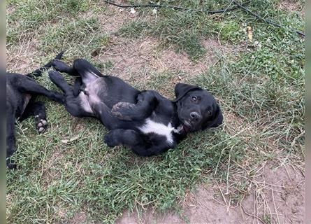
[[[172,132],[175,128],[172,127],[171,123],[166,126],[161,123],[156,123],[148,118],[145,124],[139,127],[139,130],[144,134],[154,133],[162,136],[164,135],[166,137],[166,141],[168,141],[168,144],[173,144]]]

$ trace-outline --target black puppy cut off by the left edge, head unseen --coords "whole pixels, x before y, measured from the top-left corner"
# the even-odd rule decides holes
[[[59,53],[56,59],[62,57]],[[32,76],[40,76],[42,71],[52,65],[52,62],[45,64],[40,69],[22,75],[19,73],[6,73],[6,166],[9,169],[16,167],[10,156],[15,152],[15,119],[20,121],[34,116],[36,129],[39,133],[45,132],[48,122],[45,116],[43,102],[35,102],[37,95],[43,95],[49,99],[64,104],[64,95],[50,91],[36,83]]]

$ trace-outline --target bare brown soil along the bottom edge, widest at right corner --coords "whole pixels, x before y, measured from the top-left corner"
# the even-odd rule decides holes
[[[238,205],[226,199],[219,201],[219,188],[201,186],[189,193],[183,202],[189,223],[303,223],[304,185],[301,172],[291,166],[273,169],[263,167],[250,194]],[[224,196],[225,198],[225,196]],[[186,223],[178,214],[157,214],[147,210],[142,218],[124,211],[117,224],[131,223]]]

